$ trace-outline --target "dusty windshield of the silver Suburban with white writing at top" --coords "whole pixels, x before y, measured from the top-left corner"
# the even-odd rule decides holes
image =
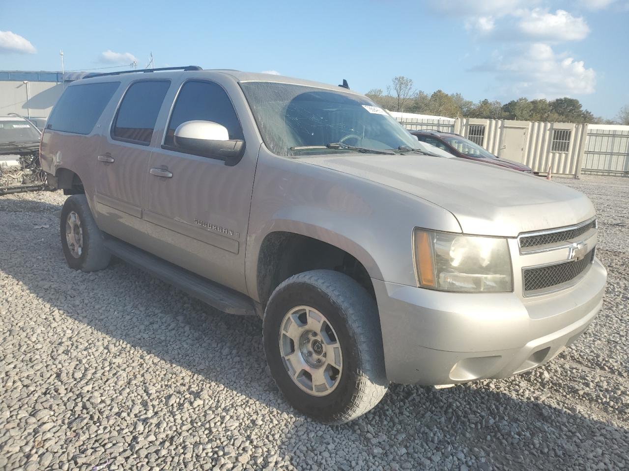
[[[347,153],[352,150],[348,146],[381,151],[418,148],[414,136],[365,97],[276,82],[240,85],[264,143],[274,154]],[[333,143],[346,145],[326,148]]]

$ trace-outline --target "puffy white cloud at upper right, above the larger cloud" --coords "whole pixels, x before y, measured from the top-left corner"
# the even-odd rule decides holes
[[[578,41],[589,33],[589,27],[581,16],[572,16],[565,10],[555,13],[541,8],[521,10],[515,13],[520,19],[518,29],[535,40]]]

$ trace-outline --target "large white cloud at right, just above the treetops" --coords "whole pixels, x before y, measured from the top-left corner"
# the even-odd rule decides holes
[[[509,50],[508,56],[494,57],[494,62],[474,70],[493,72],[501,91],[509,96],[554,99],[591,94],[596,87],[592,68],[566,54],[557,55],[542,43]]]

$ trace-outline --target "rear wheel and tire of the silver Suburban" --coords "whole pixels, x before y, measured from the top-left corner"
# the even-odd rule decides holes
[[[61,210],[60,236],[65,261],[70,268],[97,271],[109,265],[111,254],[105,249],[103,232],[96,225],[85,195],[72,195],[65,200]]]

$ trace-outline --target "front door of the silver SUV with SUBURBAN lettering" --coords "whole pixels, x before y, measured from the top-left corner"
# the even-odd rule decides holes
[[[243,293],[245,241],[258,147],[235,166],[177,151],[174,132],[186,121],[213,121],[230,139],[243,131],[228,94],[207,80],[188,80],[177,94],[164,145],[150,156],[144,219],[150,251]],[[249,143],[248,143],[249,144]]]

